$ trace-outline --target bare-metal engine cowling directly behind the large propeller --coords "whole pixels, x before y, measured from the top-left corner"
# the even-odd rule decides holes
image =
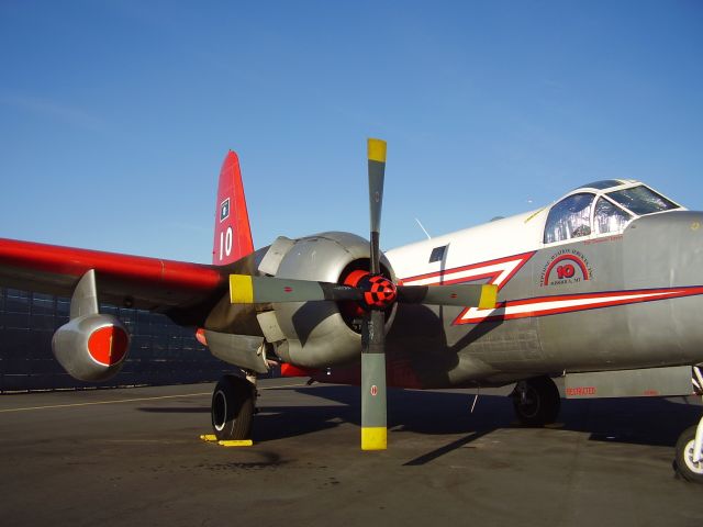
[[[358,269],[369,268],[368,240],[350,233],[322,233],[286,240],[278,253],[274,273],[278,278],[343,283]],[[278,250],[276,244],[274,253]],[[395,280],[390,262],[381,257],[384,276]],[[350,306],[354,310],[354,306]],[[286,362],[306,368],[325,368],[358,360],[361,335],[349,313],[336,302],[291,302],[274,304],[276,319],[284,340],[276,343],[276,352]],[[394,306],[387,315],[392,323]]]

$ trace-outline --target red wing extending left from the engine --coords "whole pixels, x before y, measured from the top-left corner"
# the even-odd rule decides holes
[[[70,296],[96,270],[101,302],[169,312],[214,303],[226,271],[214,266],[0,238],[0,285]]]

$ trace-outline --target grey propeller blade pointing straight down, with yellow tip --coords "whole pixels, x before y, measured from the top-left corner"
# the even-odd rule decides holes
[[[386,450],[386,316],[372,310],[361,330],[361,450]]]

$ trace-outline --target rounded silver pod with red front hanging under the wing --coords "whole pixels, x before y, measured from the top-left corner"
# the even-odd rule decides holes
[[[56,360],[75,379],[100,382],[115,375],[124,365],[130,334],[112,315],[90,314],[72,318],[54,334]]]

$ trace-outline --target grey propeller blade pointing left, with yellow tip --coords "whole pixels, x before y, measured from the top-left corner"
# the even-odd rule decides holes
[[[230,302],[233,304],[268,304],[319,300],[360,301],[362,298],[364,291],[360,289],[338,283],[230,274]]]

